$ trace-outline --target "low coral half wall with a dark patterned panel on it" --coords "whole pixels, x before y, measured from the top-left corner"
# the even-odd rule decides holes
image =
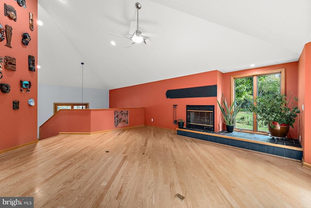
[[[128,111],[128,125],[115,127],[114,112]],[[144,125],[143,108],[127,109],[63,109],[40,126],[40,139],[58,135],[59,132],[94,133]]]

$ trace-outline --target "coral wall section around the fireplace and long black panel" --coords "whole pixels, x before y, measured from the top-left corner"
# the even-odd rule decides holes
[[[216,85],[218,76],[221,76],[218,71],[211,71],[110,90],[109,108],[144,107],[145,125],[176,129],[178,126],[173,124],[173,105],[177,105],[177,120],[186,120],[186,105],[215,105],[216,125],[220,119],[216,106],[217,97],[170,99],[165,94],[167,90]],[[215,131],[218,131],[218,125],[215,126]]]

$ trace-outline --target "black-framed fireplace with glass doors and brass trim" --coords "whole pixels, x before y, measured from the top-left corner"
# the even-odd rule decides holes
[[[187,128],[214,132],[213,105],[187,105]]]

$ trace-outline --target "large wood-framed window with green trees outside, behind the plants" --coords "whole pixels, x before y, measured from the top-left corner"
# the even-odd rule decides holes
[[[236,99],[242,109],[236,117],[235,128],[253,132],[268,132],[260,117],[247,107],[257,96],[285,93],[285,69],[231,76],[231,103]]]

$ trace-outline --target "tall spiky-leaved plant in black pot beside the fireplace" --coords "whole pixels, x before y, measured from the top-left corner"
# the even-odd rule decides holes
[[[224,97],[224,94],[222,95],[221,102],[217,100],[217,103],[223,114],[223,118],[224,118],[223,122],[226,125],[225,127],[226,127],[227,132],[233,132],[235,118],[241,109],[242,103],[240,105],[237,105],[236,99],[234,99],[232,104],[228,106],[227,101]]]

